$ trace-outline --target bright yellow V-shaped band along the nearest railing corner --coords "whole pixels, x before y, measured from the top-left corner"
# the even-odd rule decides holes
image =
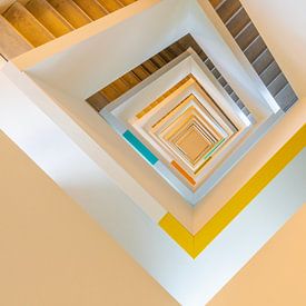
[[[162,217],[159,226],[193,258],[196,258],[305,146],[306,125],[304,125],[196,235],[190,234],[169,213]]]

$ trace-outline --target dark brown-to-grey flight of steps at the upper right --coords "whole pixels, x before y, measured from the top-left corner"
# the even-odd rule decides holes
[[[276,102],[288,110],[297,96],[240,1],[209,1]]]

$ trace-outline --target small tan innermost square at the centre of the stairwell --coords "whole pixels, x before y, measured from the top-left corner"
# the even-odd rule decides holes
[[[211,145],[194,126],[178,141],[177,147],[194,164]]]

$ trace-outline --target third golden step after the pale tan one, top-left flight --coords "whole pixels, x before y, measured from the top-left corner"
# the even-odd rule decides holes
[[[76,29],[91,22],[91,19],[72,0],[48,1]]]

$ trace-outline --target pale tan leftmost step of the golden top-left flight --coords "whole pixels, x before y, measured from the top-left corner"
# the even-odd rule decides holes
[[[7,59],[18,57],[33,47],[11,24],[0,16],[0,53]]]

